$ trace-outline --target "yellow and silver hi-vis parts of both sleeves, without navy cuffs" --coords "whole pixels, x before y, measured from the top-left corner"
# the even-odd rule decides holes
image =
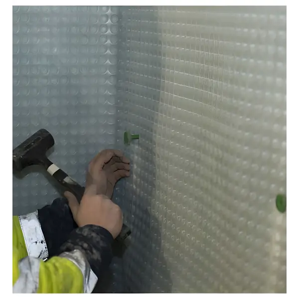
[[[40,231],[38,231],[40,230]],[[97,277],[84,254],[65,252],[46,262],[36,213],[12,217],[12,293],[91,293]]]

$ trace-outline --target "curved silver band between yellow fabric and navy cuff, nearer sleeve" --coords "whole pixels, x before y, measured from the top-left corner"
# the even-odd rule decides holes
[[[98,278],[91,270],[84,254],[79,250],[74,250],[71,252],[64,252],[59,257],[70,260],[81,270],[84,279],[84,293],[90,294],[95,288]]]

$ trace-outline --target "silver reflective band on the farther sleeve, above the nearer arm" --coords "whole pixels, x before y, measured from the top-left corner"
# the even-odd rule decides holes
[[[19,216],[28,256],[46,259],[48,257],[47,244],[38,220],[37,211]]]

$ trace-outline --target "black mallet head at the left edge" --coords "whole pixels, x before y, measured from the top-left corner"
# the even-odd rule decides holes
[[[21,171],[27,166],[43,163],[46,151],[53,145],[53,136],[45,129],[38,130],[12,150],[12,168]]]

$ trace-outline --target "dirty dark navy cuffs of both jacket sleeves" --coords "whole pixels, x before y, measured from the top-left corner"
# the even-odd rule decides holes
[[[111,233],[96,225],[78,227],[66,198],[57,198],[52,204],[37,211],[48,249],[48,258],[63,252],[80,250],[85,254],[94,274],[100,279],[113,257],[114,239]]]

